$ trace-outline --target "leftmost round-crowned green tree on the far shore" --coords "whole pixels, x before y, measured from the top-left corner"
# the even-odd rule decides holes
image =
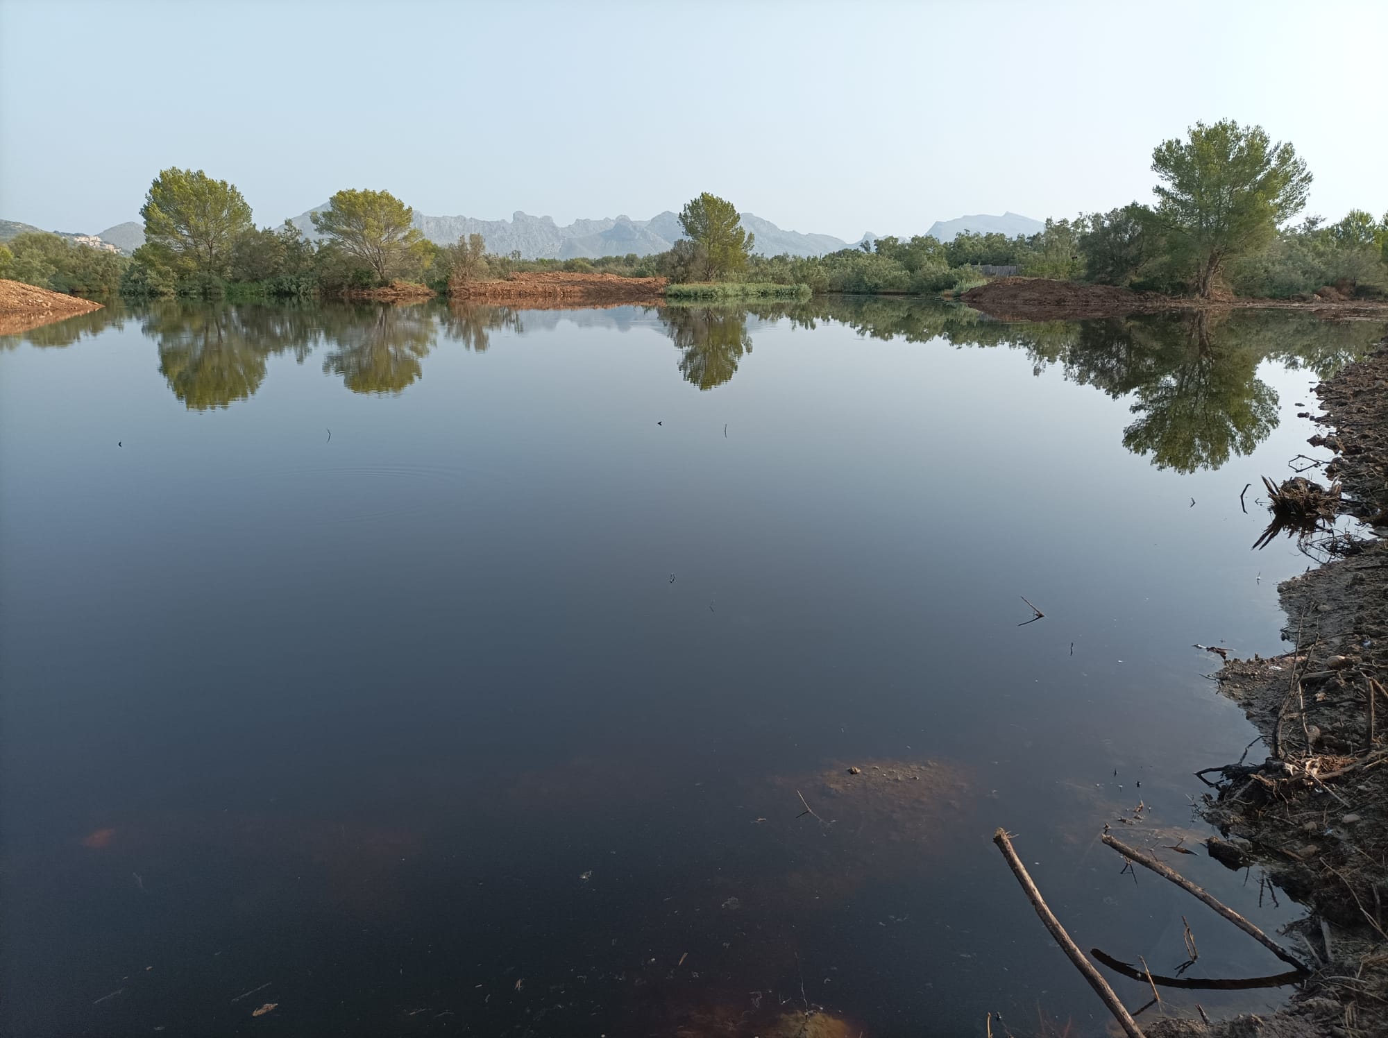
[[[230,266],[232,243],[250,230],[251,207],[226,180],[201,169],[169,168],[154,178],[144,205],[146,254],[186,272],[221,278]]]

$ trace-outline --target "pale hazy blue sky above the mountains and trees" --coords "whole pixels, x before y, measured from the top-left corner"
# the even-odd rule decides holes
[[[0,0],[0,218],[136,219],[164,167],[258,223],[340,187],[433,215],[648,218],[709,190],[856,239],[1151,196],[1262,124],[1309,211],[1388,210],[1388,3]]]

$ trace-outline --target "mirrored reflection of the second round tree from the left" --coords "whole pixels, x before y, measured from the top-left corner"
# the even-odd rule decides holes
[[[341,375],[353,393],[400,393],[421,375],[439,325],[422,305],[341,307],[325,311],[335,348],[323,372]]]

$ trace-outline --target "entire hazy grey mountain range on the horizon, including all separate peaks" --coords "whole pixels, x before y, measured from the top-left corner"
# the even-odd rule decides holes
[[[290,222],[307,237],[318,239],[321,235],[315,230],[310,214],[321,212],[325,208],[328,208],[326,203],[308,212],[301,212]],[[874,241],[877,237],[869,232],[858,241],[848,243],[833,235],[783,230],[754,212],[741,214],[741,219],[743,226],[756,236],[754,251],[761,255],[824,255],[826,253],[837,253],[840,248],[856,247],[862,241]],[[564,226],[555,223],[552,216],[532,216],[526,212],[515,212],[511,219],[429,216],[423,212],[415,212],[415,226],[423,232],[426,239],[440,246],[451,244],[462,235],[482,235],[487,241],[487,251],[501,255],[519,253],[523,260],[576,260],[580,257],[626,255],[627,253],[650,255],[666,251],[675,241],[684,237],[679,216],[669,210],[651,219],[604,216],[601,219],[576,219]],[[1041,221],[1020,216],[1016,212],[1005,212],[1001,216],[979,214],[951,221],[936,221],[927,233],[941,241],[949,241],[965,230],[998,232],[1013,237],[1015,235],[1034,235],[1042,226]],[[28,223],[0,221],[0,241],[37,229]],[[71,232],[57,233],[74,236]],[[124,253],[133,253],[144,244],[144,226],[136,221],[128,221],[107,228],[96,237],[110,241]]]

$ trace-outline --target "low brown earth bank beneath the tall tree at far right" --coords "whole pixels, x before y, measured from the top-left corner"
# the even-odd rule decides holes
[[[999,278],[960,297],[965,305],[1002,321],[1058,321],[1108,318],[1126,314],[1162,314],[1181,309],[1299,309],[1331,318],[1378,318],[1388,314],[1388,300],[1202,300],[1134,291],[1115,284],[1085,284],[1051,278]]]

